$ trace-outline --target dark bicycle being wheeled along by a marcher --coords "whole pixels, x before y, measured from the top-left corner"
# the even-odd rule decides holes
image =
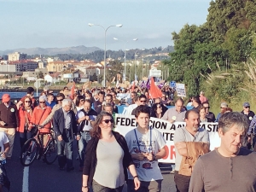
[[[37,129],[37,133],[34,137],[28,139],[21,148],[20,163],[22,166],[30,166],[34,160],[40,160],[44,155],[44,161],[46,164],[51,165],[57,159],[57,142],[54,137],[54,131],[51,129],[50,133],[41,134],[39,133],[39,125],[34,126],[34,129]],[[44,135],[47,135],[45,147],[43,145]],[[42,136],[42,139],[40,136]]]

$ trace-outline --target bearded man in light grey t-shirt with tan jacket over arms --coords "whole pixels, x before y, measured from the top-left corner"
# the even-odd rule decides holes
[[[177,192],[188,192],[189,181],[195,161],[202,154],[209,152],[209,133],[200,128],[200,116],[195,110],[185,113],[185,127],[174,133],[176,151],[174,182]]]

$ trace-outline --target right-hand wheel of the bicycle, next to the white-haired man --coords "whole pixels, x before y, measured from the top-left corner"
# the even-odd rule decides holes
[[[49,141],[45,148],[44,152],[44,160],[48,165],[51,165],[55,162],[57,159],[57,142],[56,140],[52,137],[52,139]]]

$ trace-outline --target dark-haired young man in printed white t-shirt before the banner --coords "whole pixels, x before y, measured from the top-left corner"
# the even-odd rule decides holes
[[[129,172],[127,191],[159,192],[163,177],[157,160],[166,156],[166,140],[160,131],[148,126],[150,109],[147,106],[137,107],[135,119],[138,126],[125,135],[125,140],[137,169],[141,187],[134,189],[134,178]]]

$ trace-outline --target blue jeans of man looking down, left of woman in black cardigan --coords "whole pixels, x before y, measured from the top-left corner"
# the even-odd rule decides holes
[[[84,166],[84,158],[85,158],[85,148],[87,143],[90,140],[90,132],[89,131],[81,131],[81,138],[79,139],[79,160],[80,167]]]

